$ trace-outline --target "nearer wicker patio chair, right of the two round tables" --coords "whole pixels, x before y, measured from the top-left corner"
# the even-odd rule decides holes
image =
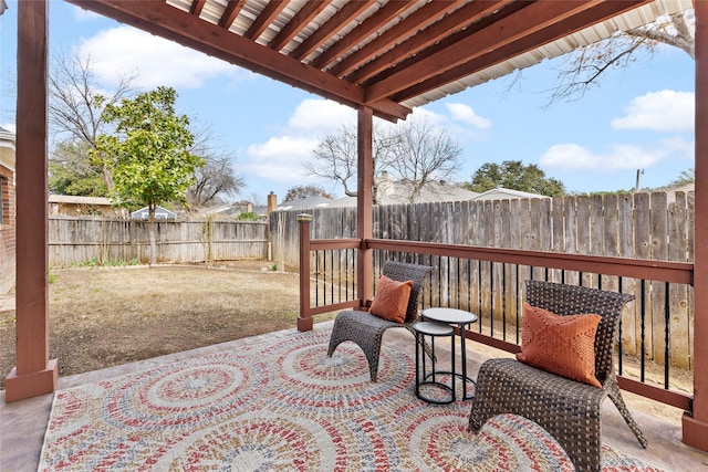
[[[469,418],[478,432],[500,413],[523,416],[563,447],[579,471],[601,470],[601,405],[615,403],[643,448],[647,440],[627,409],[614,371],[614,348],[623,306],[634,298],[597,289],[541,281],[525,282],[527,302],[558,315],[602,316],[595,335],[595,377],[602,388],[531,367],[516,359],[489,359],[479,369]]]

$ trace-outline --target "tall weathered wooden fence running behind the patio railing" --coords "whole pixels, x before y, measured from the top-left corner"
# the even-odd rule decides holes
[[[306,212],[314,217],[312,239],[356,235],[355,208]],[[295,216],[295,212],[271,216],[272,254],[279,266],[299,264]],[[666,192],[654,192],[377,206],[374,238],[690,263],[694,260],[694,193],[676,192],[675,201],[670,202]],[[500,281],[493,279],[504,276],[504,271],[494,270],[494,264],[479,264],[475,270],[480,273],[473,276],[464,273],[459,280],[435,283],[444,284],[441,293],[446,298],[450,296],[446,291],[485,291],[487,281],[501,286]],[[529,273],[524,271],[522,276]],[[539,275],[543,276],[546,274]],[[548,276],[558,279],[553,270]],[[575,274],[575,280],[579,276],[585,275]],[[466,282],[469,280],[483,283],[473,287]],[[566,282],[574,283],[572,275]],[[583,284],[593,285],[596,281],[584,279]],[[617,290],[618,282],[611,279],[603,284],[604,289]],[[663,282],[624,280],[622,290],[637,296],[632,313],[623,317],[622,344],[627,353],[643,354],[642,357],[663,364],[667,356],[665,339],[670,333],[670,364],[690,368],[693,289],[671,284],[667,291]],[[514,304],[498,304],[504,305]]]

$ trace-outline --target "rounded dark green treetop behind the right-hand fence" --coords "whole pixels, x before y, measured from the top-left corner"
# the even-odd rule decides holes
[[[480,193],[503,187],[548,197],[565,195],[565,187],[560,180],[545,177],[545,172],[535,164],[524,165],[520,160],[487,162],[475,172],[472,181],[464,183],[462,187]]]

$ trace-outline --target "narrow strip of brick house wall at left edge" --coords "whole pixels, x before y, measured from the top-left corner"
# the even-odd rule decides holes
[[[0,295],[14,286],[15,260],[15,198],[14,175],[12,170],[0,166],[0,187],[2,196],[2,221],[0,222]]]

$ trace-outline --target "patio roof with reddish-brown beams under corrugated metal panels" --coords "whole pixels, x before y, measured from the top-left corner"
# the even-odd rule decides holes
[[[691,0],[69,1],[391,120],[693,8]]]

